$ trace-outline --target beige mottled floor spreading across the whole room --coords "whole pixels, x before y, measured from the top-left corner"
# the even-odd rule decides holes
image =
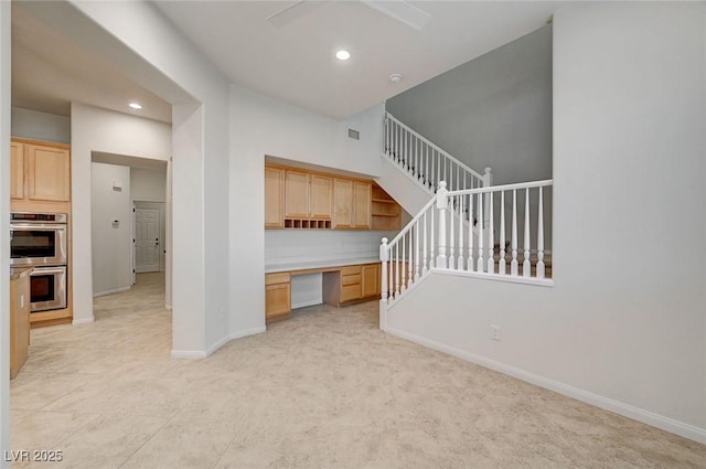
[[[706,447],[387,337],[375,301],[312,307],[170,359],[160,275],[96,322],[32,331],[12,449],[41,468],[705,468]]]

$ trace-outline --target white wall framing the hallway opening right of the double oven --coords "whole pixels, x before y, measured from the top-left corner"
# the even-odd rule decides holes
[[[165,161],[171,156],[171,126],[128,114],[72,104],[74,323],[93,321],[93,151]],[[129,189],[129,169],[127,179],[125,184]],[[129,207],[129,190],[127,195],[126,206]]]

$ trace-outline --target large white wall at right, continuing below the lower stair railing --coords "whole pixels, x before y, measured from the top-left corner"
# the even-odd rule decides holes
[[[388,326],[706,443],[705,15],[556,12],[555,287],[432,276]]]

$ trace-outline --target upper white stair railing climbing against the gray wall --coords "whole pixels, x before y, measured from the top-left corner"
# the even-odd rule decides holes
[[[384,154],[429,193],[436,192],[440,181],[450,191],[493,184],[490,168],[483,174],[473,171],[389,113],[385,113],[384,145]]]

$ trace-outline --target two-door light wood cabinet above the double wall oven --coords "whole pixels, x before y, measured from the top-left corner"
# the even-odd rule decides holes
[[[13,140],[11,174],[15,201],[71,201],[71,156],[64,145]]]

